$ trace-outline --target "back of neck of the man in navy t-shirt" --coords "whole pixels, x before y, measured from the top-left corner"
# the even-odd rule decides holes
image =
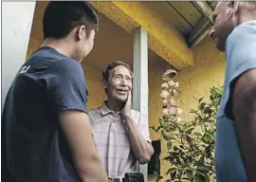
[[[75,52],[73,51],[75,45],[70,44],[66,39],[47,38],[41,46],[50,46],[64,56],[70,57],[79,62],[79,59],[76,58]]]

